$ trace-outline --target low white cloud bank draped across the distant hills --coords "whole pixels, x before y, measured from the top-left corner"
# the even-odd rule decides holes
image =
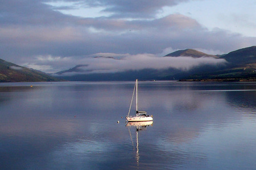
[[[115,54],[117,56],[117,54]],[[92,73],[117,73],[128,70],[142,69],[179,69],[188,71],[201,65],[223,65],[225,59],[212,57],[156,57],[154,54],[127,54],[121,59],[113,58],[84,58],[79,61],[76,71],[63,75],[92,74]]]

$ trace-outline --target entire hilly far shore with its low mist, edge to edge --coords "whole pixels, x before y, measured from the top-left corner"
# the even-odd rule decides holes
[[[123,58],[93,57],[55,74],[28,69],[0,59],[0,82],[102,81],[102,80],[256,80],[256,46],[228,54],[210,55],[185,49],[156,57],[152,54]]]

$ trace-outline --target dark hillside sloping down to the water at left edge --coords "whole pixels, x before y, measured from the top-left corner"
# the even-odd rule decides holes
[[[0,59],[0,82],[49,82],[60,79]]]

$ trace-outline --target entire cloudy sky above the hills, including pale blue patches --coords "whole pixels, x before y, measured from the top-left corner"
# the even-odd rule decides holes
[[[255,0],[0,0],[0,58],[46,73],[120,65],[95,56],[160,67],[179,49],[224,54],[256,45],[255,8]]]

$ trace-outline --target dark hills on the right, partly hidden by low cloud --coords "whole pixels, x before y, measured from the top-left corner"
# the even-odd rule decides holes
[[[167,54],[167,56],[193,56],[202,57],[207,56],[205,53],[197,50],[187,49],[179,50],[174,53]],[[238,49],[228,54],[216,55],[214,58],[223,58],[228,61],[225,66],[212,67],[201,66],[189,70],[189,73],[179,73],[177,77],[183,80],[256,80],[256,46],[251,46],[243,49]]]

